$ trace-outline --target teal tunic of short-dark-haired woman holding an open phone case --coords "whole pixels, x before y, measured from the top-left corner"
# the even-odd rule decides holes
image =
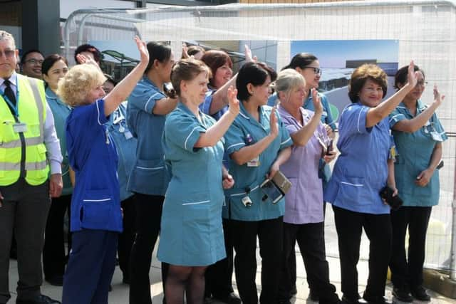
[[[269,115],[272,108],[264,105],[259,107],[259,122],[252,117],[241,103],[241,111],[225,134],[225,149],[232,154],[246,145],[255,142],[269,135]],[[280,120],[279,113],[276,113],[279,122],[279,135],[259,155],[259,166],[249,167],[248,164],[240,166],[232,159],[229,159],[229,174],[234,179],[234,187],[225,190],[227,204],[223,208],[225,219],[238,221],[262,221],[265,219],[276,219],[285,213],[284,198],[276,204],[268,198],[264,199],[264,193],[260,185],[266,179],[271,165],[277,158],[280,150],[293,144],[289,132]],[[252,206],[246,207],[242,198],[249,196]]]

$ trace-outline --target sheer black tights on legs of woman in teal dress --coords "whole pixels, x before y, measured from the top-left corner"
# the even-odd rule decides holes
[[[204,272],[207,266],[170,265],[165,282],[167,304],[201,304],[204,300]]]

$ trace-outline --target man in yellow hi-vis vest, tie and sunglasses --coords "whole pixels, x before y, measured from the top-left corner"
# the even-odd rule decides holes
[[[0,30],[0,304],[9,293],[9,251],[17,242],[17,304],[60,303],[40,291],[41,251],[51,196],[62,189],[60,144],[41,80],[15,72],[13,36]]]

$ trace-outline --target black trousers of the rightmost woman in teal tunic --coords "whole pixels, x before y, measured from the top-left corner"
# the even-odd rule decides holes
[[[416,288],[423,284],[423,263],[427,225],[432,207],[402,206],[391,211],[393,253],[391,281],[398,288]],[[405,234],[408,229],[408,255],[405,256]]]

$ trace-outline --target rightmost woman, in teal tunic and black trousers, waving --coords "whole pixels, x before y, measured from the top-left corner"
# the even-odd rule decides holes
[[[447,140],[445,130],[435,115],[442,103],[437,86],[434,101],[425,105],[421,95],[425,89],[425,74],[415,65],[418,83],[390,114],[390,127],[398,149],[395,162],[396,187],[404,204],[391,211],[393,224],[393,254],[390,260],[393,295],[400,301],[428,301],[423,288],[423,263],[427,224],[432,206],[438,204],[440,183],[437,165],[442,158],[442,142]],[[404,86],[407,67],[395,75],[395,86]],[[408,231],[408,254],[405,254],[405,234]]]

